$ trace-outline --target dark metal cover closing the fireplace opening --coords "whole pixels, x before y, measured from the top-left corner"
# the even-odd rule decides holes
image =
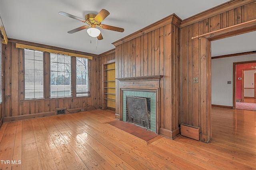
[[[147,99],[126,96],[128,120],[143,127],[150,128],[150,113],[148,112]]]

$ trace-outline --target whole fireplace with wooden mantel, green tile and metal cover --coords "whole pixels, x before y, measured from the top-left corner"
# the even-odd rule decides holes
[[[162,75],[156,76],[140,76],[117,78],[116,84],[116,114],[115,118],[121,121],[135,123],[142,127],[153,131],[156,134],[160,133],[160,86],[162,87]],[[128,100],[140,99],[143,102],[143,111],[135,101],[133,104],[127,104]],[[129,106],[130,105],[130,106]],[[143,112],[138,122],[134,115],[128,113],[128,107],[134,107],[134,113]],[[147,109],[146,109],[147,107]],[[131,109],[131,108],[130,108]],[[137,114],[136,113],[136,114]]]

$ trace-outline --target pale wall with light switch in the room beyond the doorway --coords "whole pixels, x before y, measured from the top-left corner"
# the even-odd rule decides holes
[[[212,59],[212,104],[233,106],[233,63],[255,60],[256,54]]]

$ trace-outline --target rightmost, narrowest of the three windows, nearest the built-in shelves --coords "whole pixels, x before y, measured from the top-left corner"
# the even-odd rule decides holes
[[[76,57],[76,96],[89,95],[88,59]]]

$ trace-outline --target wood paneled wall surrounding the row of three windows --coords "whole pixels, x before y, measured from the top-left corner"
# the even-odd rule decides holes
[[[100,58],[93,56],[89,60],[90,76],[90,97],[77,98],[55,98],[42,100],[22,100],[22,49],[17,49],[15,44],[24,43],[44,48],[51,48],[60,51],[69,51],[57,47],[39,45],[20,40],[10,40],[4,45],[4,119],[13,121],[23,118],[40,117],[56,114],[56,108],[66,108],[69,111],[78,111],[81,108],[92,109],[101,105],[101,86],[100,80]],[[77,51],[70,51],[81,53]],[[84,54],[84,53],[81,53]],[[86,55],[88,55],[86,53]],[[90,55],[90,54],[89,54]],[[90,106],[94,106],[91,107]]]

